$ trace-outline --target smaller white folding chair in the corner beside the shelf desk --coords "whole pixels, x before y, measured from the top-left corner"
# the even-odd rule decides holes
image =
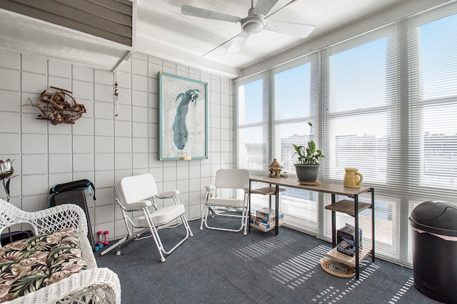
[[[206,185],[206,199],[201,216],[200,229],[205,225],[208,229],[238,232],[244,229],[244,235],[247,234],[248,226],[248,189],[249,189],[249,172],[246,169],[219,169],[216,172],[216,181],[214,185]],[[236,199],[236,191],[243,192],[243,199]],[[221,197],[222,192],[224,196]],[[241,211],[241,215],[239,214]],[[209,226],[209,216],[228,216],[231,218],[241,219],[239,229],[229,229],[224,227]]]

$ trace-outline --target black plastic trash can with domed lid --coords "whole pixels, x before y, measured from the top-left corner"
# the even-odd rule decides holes
[[[414,287],[429,298],[457,303],[457,207],[424,201],[409,217]]]

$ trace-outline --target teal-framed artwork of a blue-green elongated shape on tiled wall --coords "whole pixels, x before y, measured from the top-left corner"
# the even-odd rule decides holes
[[[159,72],[159,159],[208,158],[208,83]]]

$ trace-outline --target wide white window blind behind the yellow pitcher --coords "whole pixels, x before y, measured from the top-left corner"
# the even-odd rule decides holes
[[[342,182],[345,168],[363,174],[363,185],[376,192],[375,231],[377,253],[400,256],[398,200],[383,197],[382,189],[395,185],[399,159],[396,147],[399,115],[396,73],[396,25],[348,39],[323,51],[323,137],[328,163],[324,174],[332,182]],[[343,199],[343,198],[338,198]],[[363,195],[361,200],[370,202]],[[329,201],[324,204],[329,204]],[[336,214],[336,227],[353,224],[353,218]],[[371,244],[371,213],[359,214],[363,245]],[[331,214],[325,214],[324,235],[331,234]]]

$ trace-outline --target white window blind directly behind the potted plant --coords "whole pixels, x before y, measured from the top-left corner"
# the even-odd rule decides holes
[[[271,155],[283,166],[283,172],[295,176],[295,145],[309,140],[320,147],[319,138],[319,65],[318,52],[268,71],[271,83]],[[308,122],[313,124],[311,128]],[[288,226],[319,234],[318,194],[286,189],[281,194],[281,211]]]

